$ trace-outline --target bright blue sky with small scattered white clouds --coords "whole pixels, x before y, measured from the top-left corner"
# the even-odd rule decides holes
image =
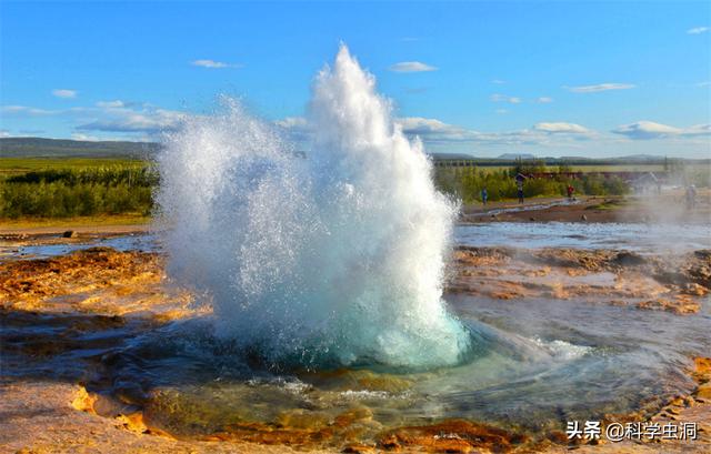
[[[0,2],[0,134],[298,128],[346,42],[428,150],[711,157],[711,2]],[[284,120],[287,119],[287,120]]]

